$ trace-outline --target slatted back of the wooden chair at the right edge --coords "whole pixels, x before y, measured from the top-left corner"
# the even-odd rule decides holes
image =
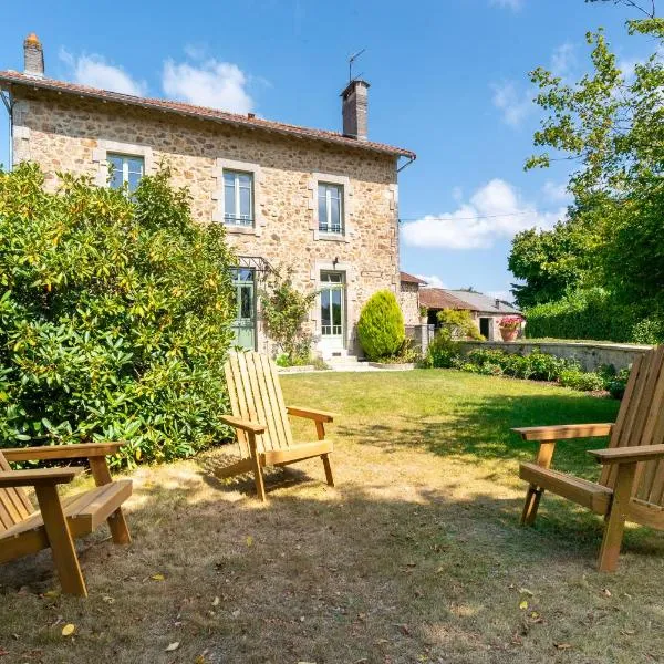
[[[641,355],[633,364],[609,447],[664,443],[664,346]],[[613,487],[618,466],[608,465],[600,483]],[[664,507],[664,464],[639,464],[633,496]]]

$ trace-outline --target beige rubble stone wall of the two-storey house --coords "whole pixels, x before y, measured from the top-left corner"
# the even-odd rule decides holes
[[[13,94],[14,162],[41,164],[50,188],[59,170],[104,184],[107,152],[139,154],[146,173],[170,166],[173,184],[190,189],[194,218],[207,224],[220,219],[221,169],[252,170],[256,227],[229,227],[228,241],[240,256],[292,267],[302,290],[319,288],[321,270],[345,271],[349,352],[366,299],[380,289],[400,295],[395,157],[28,87]],[[317,230],[317,183],[328,176],[344,184],[343,239]],[[317,304],[308,322],[314,339],[319,318]],[[267,343],[259,328],[259,350]]]

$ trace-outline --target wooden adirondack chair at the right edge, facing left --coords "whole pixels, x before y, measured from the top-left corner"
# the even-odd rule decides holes
[[[600,571],[614,571],[625,521],[664,530],[664,346],[632,366],[615,424],[580,424],[512,429],[540,444],[535,464],[521,464],[530,483],[521,523],[535,523],[544,490],[573,500],[605,519]],[[556,440],[610,436],[606,449],[590,450],[602,464],[599,483],[552,470]]]

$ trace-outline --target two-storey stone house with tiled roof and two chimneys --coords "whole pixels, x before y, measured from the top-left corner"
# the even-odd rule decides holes
[[[273,352],[259,293],[271,270],[290,268],[298,289],[319,293],[305,323],[314,350],[357,353],[364,302],[400,295],[397,173],[415,159],[367,139],[369,83],[342,92],[336,133],[49,79],[37,37],[23,45],[24,71],[0,72],[12,165],[37,162],[51,188],[74,172],[131,190],[168,164],[194,218],[224,224],[236,249],[237,344]]]

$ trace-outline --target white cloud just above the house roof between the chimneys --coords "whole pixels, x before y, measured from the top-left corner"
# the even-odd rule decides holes
[[[190,55],[195,53],[189,49]],[[248,113],[253,107],[253,100],[246,90],[247,82],[246,74],[236,64],[214,58],[196,65],[167,60],[162,75],[162,85],[168,96],[232,113]]]

